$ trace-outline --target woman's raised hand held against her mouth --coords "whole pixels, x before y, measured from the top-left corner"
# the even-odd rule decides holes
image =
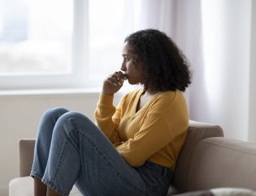
[[[114,95],[115,92],[118,92],[121,87],[123,87],[124,80],[126,79],[125,75],[121,71],[116,71],[114,74],[109,75],[104,80],[102,93],[106,95]]]

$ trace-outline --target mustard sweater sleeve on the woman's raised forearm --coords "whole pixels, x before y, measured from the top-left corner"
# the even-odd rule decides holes
[[[117,108],[113,105],[114,96],[101,94],[98,100],[97,108],[94,112],[96,125],[106,137],[111,140],[111,143],[120,143],[118,127],[120,121],[120,106]]]

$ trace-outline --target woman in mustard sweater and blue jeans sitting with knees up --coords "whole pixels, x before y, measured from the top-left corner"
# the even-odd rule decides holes
[[[121,70],[105,79],[94,116],[48,110],[37,133],[31,176],[35,195],[165,195],[189,126],[182,92],[190,72],[163,32],[125,39]],[[144,88],[113,105],[127,79]]]

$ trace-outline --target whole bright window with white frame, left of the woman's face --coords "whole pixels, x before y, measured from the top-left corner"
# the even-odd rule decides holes
[[[119,70],[132,2],[0,0],[0,89],[102,84]]]

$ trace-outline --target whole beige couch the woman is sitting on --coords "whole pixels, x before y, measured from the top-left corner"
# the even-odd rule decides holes
[[[34,142],[34,139],[20,139],[20,177],[10,182],[10,196],[33,195],[33,179],[28,175]],[[223,138],[219,126],[189,121],[173,186],[183,192],[216,187],[256,190],[256,144]],[[74,186],[70,195],[81,194]]]

